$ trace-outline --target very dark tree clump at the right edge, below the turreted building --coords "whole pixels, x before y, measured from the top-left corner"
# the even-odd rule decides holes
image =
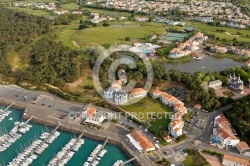
[[[250,96],[236,101],[233,108],[224,113],[239,137],[250,144]]]

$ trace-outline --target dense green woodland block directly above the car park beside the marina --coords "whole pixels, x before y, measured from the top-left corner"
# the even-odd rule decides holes
[[[74,60],[78,55],[78,51],[44,37],[33,46],[31,66],[16,78],[33,84],[50,83],[62,87],[65,82],[73,82],[79,77],[80,67]]]

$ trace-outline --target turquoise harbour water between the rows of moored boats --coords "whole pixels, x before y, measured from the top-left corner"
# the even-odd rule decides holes
[[[0,109],[3,109],[3,106],[0,106]],[[11,113],[6,117],[2,122],[0,122],[0,135],[3,133],[8,133],[13,127],[14,122],[21,122],[22,111],[17,109],[9,109]],[[42,132],[51,131],[52,128],[46,127],[40,124],[29,122],[33,127],[22,135],[15,143],[13,143],[7,150],[0,152],[0,166],[8,165],[18,153],[28,147],[34,139],[38,139]],[[62,147],[66,145],[72,137],[78,137],[73,133],[68,133],[60,131],[61,133],[58,138],[56,138],[49,147],[45,149],[37,159],[33,161],[32,166],[43,166],[48,165],[49,161],[55,157],[56,153],[61,151]],[[102,141],[97,141],[94,139],[82,137],[84,139],[84,144],[81,148],[74,154],[74,156],[66,164],[67,166],[80,166],[83,165],[90,153],[95,149],[98,144],[103,144]],[[99,166],[112,166],[117,160],[126,161],[129,158],[115,145],[106,144],[105,148],[108,152],[101,158]],[[132,166],[133,164],[126,164]]]

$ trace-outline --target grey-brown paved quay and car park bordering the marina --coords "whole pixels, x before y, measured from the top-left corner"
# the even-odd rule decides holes
[[[24,100],[23,94],[28,98]],[[132,150],[133,147],[126,141],[124,135],[89,128],[88,126],[71,123],[70,121],[59,118],[62,113],[77,112],[81,109],[82,103],[65,101],[55,95],[29,91],[15,85],[0,85],[0,104],[7,106],[10,103],[14,103],[12,108],[23,111],[23,119],[27,120],[33,116],[31,121],[53,128],[57,127],[58,122],[60,122],[61,125],[58,126],[59,130],[79,135],[83,134],[84,137],[103,142],[109,138],[107,143],[118,146],[128,158],[136,157],[132,161],[133,164],[143,166],[151,165],[144,156]]]

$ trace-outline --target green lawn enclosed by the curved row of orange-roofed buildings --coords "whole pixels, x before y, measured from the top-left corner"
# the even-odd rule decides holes
[[[165,113],[172,112],[170,107],[150,97],[145,97],[132,105],[121,106],[121,108],[128,112],[134,112],[135,114],[140,113],[138,114],[138,118],[143,120],[150,120],[151,115],[155,115],[156,113],[159,113],[161,116],[165,116]]]

